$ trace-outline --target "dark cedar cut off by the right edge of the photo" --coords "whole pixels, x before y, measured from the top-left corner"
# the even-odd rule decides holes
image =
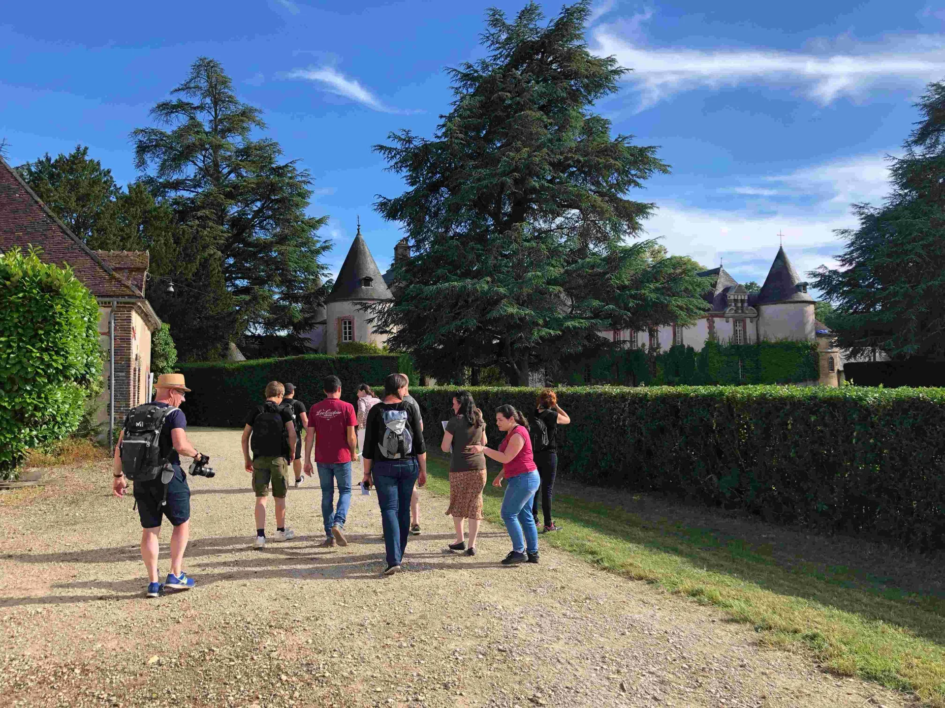
[[[820,266],[814,287],[834,306],[828,324],[853,356],[875,350],[895,360],[945,356],[945,83],[916,105],[922,120],[889,158],[893,191],[883,207],[854,204],[860,228],[840,267]]]

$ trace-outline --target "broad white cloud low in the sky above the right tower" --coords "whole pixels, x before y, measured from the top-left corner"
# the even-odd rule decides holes
[[[821,264],[835,265],[832,256],[843,250],[833,233],[855,228],[853,202],[879,204],[889,191],[884,154],[836,160],[755,184],[723,190],[761,197],[730,209],[698,208],[679,200],[658,200],[659,210],[645,223],[647,237],[660,238],[674,255],[690,256],[706,267],[724,261],[726,270],[742,281],[761,282],[778,250],[784,249],[800,273]]]

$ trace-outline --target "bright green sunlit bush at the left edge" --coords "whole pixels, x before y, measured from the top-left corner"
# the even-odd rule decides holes
[[[0,479],[27,448],[76,430],[101,379],[95,298],[38,254],[0,254]]]

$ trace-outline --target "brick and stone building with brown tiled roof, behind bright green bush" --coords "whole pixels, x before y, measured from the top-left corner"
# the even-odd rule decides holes
[[[130,408],[150,400],[151,332],[161,320],[145,299],[147,253],[91,250],[0,158],[0,251],[30,245],[43,249],[45,262],[67,263],[98,301],[99,342],[106,352],[99,416],[110,419],[113,396],[111,419],[121,425]]]

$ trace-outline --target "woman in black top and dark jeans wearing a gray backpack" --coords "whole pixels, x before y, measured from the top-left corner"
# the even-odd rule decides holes
[[[391,374],[384,398],[374,404],[365,423],[364,479],[377,489],[387,549],[385,575],[400,571],[410,537],[410,497],[414,483],[426,484],[426,446],[416,406],[404,403],[407,378]]]

